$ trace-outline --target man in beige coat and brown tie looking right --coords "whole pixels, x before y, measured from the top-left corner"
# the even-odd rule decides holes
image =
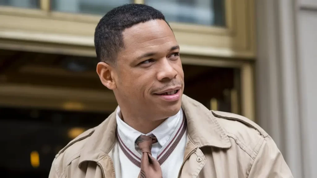
[[[161,12],[117,7],[94,40],[97,73],[119,106],[56,155],[50,178],[292,177],[262,128],[183,95],[179,46]]]

